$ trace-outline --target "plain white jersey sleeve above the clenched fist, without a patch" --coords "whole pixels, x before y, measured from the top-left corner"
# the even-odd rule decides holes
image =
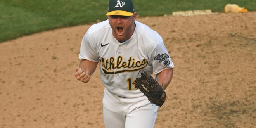
[[[89,60],[93,62],[99,62],[99,57],[97,55],[97,50],[95,47],[93,47],[93,43],[90,40],[89,36],[89,30],[86,32],[85,36],[83,36],[83,40],[81,42],[81,47],[80,47],[80,53],[79,53],[79,59],[83,60]]]

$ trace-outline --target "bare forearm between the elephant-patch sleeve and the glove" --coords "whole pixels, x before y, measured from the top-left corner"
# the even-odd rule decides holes
[[[157,82],[160,85],[163,85],[162,88],[165,90],[169,83],[171,82],[171,79],[173,77],[173,68],[172,69],[164,69],[161,71],[157,76]]]

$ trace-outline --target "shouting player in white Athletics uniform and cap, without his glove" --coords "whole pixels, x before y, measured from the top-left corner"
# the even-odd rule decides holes
[[[75,76],[88,83],[97,64],[105,86],[103,115],[106,128],[153,128],[158,106],[133,84],[139,71],[156,74],[163,89],[173,75],[173,62],[161,36],[135,21],[131,0],[109,0],[107,20],[84,35]]]

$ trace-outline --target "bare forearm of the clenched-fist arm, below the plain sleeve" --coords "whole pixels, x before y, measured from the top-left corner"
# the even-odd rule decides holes
[[[94,73],[94,71],[96,70],[98,65],[98,62],[92,62],[92,61],[88,61],[88,60],[81,60],[79,67],[81,69],[83,69],[84,71],[86,71],[86,73],[88,75],[92,75]]]

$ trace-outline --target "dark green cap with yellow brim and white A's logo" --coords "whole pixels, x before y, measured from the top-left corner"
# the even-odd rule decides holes
[[[109,0],[109,15],[132,16],[134,12],[131,0]]]

